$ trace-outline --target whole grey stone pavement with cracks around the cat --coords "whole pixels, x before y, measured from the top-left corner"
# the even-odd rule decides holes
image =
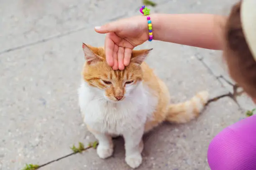
[[[156,2],[156,13],[225,14],[233,0]],[[102,46],[105,35],[93,27],[137,15],[140,5],[136,0],[0,0],[0,170],[42,165],[71,153],[73,144],[95,140],[82,124],[77,103],[82,42]],[[232,92],[220,52],[157,41],[138,48],[151,47],[146,61],[168,85],[173,102],[200,90],[208,90],[211,98]],[[211,138],[254,107],[245,95],[237,100],[242,110],[225,97],[211,102],[195,121],[164,124],[146,135],[140,169],[206,170]],[[123,140],[115,143],[108,160],[90,149],[41,169],[129,169]]]

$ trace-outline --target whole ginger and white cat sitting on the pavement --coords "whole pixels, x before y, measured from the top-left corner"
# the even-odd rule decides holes
[[[185,123],[199,115],[208,100],[200,92],[191,100],[170,103],[169,91],[143,62],[150,50],[133,50],[124,70],[113,70],[105,61],[103,47],[83,44],[85,64],[79,88],[79,106],[88,130],[99,141],[97,154],[113,154],[113,135],[125,140],[125,162],[141,165],[142,136],[163,121]]]

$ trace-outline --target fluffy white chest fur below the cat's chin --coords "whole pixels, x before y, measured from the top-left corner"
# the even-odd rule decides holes
[[[84,81],[78,94],[83,121],[93,130],[115,135],[143,127],[146,120],[152,117],[158,102],[142,83],[118,102],[106,100],[103,90]]]

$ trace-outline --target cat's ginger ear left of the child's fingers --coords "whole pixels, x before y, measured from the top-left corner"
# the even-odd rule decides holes
[[[102,58],[97,55],[98,48],[92,47],[90,45],[84,44],[82,45],[84,51],[84,59],[86,60],[88,65],[96,64],[100,62]]]

